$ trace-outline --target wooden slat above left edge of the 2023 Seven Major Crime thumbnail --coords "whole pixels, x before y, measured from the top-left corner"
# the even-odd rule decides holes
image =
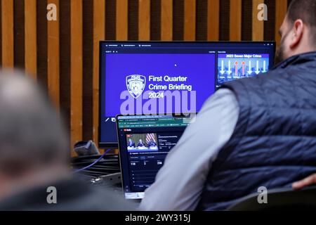
[[[207,1],[207,39],[218,41],[219,39],[220,0]]]

